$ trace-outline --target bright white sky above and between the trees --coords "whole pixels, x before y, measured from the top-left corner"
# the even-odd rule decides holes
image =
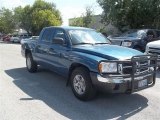
[[[0,0],[0,8],[5,7],[13,9],[17,6],[32,5],[35,0]],[[94,14],[102,13],[101,7],[96,0],[45,0],[56,4],[57,9],[61,12],[63,25],[68,25],[68,19],[79,17],[85,12],[85,7],[92,6]]]

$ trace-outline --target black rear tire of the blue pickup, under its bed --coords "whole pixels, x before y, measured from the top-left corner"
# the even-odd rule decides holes
[[[30,65],[29,65],[30,60]],[[27,70],[31,73],[34,73],[37,71],[37,63],[33,60],[31,53],[28,53],[26,55],[26,66]]]

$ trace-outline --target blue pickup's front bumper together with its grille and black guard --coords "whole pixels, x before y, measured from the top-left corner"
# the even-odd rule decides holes
[[[144,63],[147,61],[147,64]],[[150,62],[148,62],[150,61]],[[122,67],[127,73],[99,74],[90,72],[95,88],[108,93],[132,93],[152,87],[155,84],[157,56],[134,56],[131,61],[114,61],[118,65],[127,63],[130,66]],[[145,71],[142,71],[145,70]]]

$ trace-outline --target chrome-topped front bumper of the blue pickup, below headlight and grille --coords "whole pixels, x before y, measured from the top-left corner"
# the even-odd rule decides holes
[[[153,74],[136,77],[132,82],[131,77],[114,77],[114,76],[101,76],[97,73],[90,73],[91,80],[95,88],[101,92],[107,93],[132,93],[142,89],[152,87],[155,84]],[[147,84],[142,87],[138,87],[139,82],[146,80]],[[132,88],[133,84],[133,88]]]

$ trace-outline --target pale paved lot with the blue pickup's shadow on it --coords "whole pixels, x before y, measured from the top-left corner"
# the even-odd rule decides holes
[[[66,79],[43,68],[28,73],[20,45],[0,43],[0,120],[159,120],[160,75],[154,87],[132,95],[77,100]]]

